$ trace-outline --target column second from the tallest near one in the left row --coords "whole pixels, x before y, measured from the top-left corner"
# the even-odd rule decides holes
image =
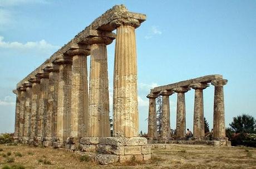
[[[110,137],[109,121],[109,77],[107,73],[107,47],[112,37],[88,38],[91,44],[90,85],[89,85],[89,137]]]

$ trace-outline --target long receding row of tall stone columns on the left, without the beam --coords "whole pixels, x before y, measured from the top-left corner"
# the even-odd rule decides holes
[[[114,136],[138,136],[136,19],[116,19]],[[112,33],[113,34],[113,33]],[[114,38],[86,38],[17,89],[15,135],[41,141],[108,137],[107,48]],[[87,56],[91,55],[90,82]]]

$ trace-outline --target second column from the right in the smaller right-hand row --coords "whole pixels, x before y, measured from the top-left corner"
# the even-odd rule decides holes
[[[194,137],[204,137],[204,98],[203,89],[209,85],[204,83],[191,84],[190,87],[195,89],[195,102],[194,102],[194,124],[193,135]]]

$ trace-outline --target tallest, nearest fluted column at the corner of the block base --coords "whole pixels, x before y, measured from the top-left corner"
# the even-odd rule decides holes
[[[136,19],[116,19],[117,27],[114,63],[113,125],[114,136],[137,137],[139,127],[137,101]]]

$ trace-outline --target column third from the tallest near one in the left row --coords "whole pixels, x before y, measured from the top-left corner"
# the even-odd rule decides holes
[[[88,137],[88,81],[87,56],[90,48],[73,48],[68,50],[72,58],[72,89],[71,89],[71,136]]]

